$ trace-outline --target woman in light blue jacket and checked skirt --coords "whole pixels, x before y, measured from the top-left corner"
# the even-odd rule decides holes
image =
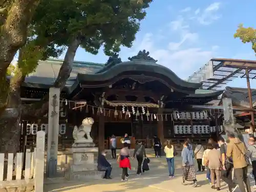
[[[181,152],[182,157],[182,184],[186,185],[186,181],[193,181],[193,187],[197,186],[197,178],[194,166],[194,153],[190,149],[188,141],[183,144]]]

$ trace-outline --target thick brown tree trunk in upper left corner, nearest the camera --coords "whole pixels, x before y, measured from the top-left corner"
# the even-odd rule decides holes
[[[25,45],[27,28],[40,0],[14,0],[1,3],[2,8],[10,6],[6,14],[1,15],[4,20],[0,29],[0,114],[7,105],[9,84],[6,80],[7,68],[18,49]]]

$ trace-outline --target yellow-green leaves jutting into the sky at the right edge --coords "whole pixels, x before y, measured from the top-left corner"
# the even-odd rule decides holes
[[[243,24],[240,24],[234,38],[240,38],[244,44],[250,42],[251,48],[256,53],[256,29],[252,27],[244,28]]]

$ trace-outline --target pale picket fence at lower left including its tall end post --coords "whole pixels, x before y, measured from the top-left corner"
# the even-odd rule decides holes
[[[19,191],[42,192],[44,186],[45,132],[37,132],[34,152],[0,153],[0,189],[17,187]],[[30,188],[30,189],[29,189]]]

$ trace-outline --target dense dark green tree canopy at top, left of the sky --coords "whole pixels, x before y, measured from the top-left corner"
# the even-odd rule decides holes
[[[61,53],[71,37],[81,39],[81,47],[97,54],[101,46],[106,55],[131,47],[140,20],[151,0],[44,0],[33,17],[36,35],[51,42],[48,52]],[[54,45],[54,46],[53,46]],[[51,50],[51,51],[50,51]]]

